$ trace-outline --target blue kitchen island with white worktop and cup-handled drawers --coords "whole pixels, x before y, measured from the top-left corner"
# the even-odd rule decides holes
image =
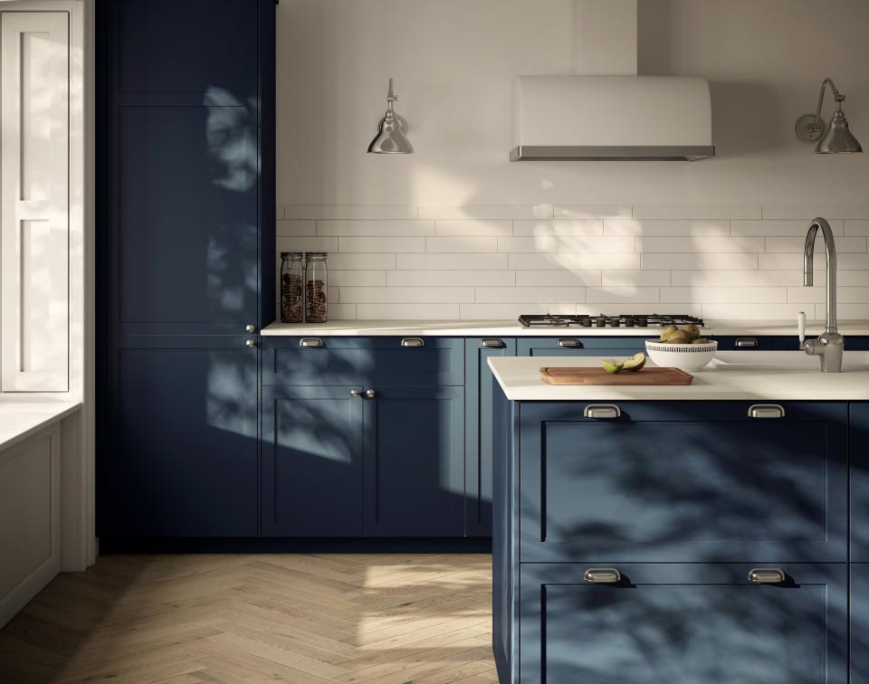
[[[869,365],[684,387],[489,365],[501,682],[869,681]]]

